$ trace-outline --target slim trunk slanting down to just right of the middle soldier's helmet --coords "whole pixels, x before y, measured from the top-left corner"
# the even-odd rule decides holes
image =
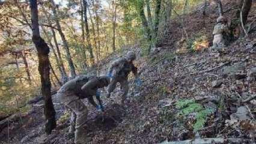
[[[145,29],[145,32],[147,34],[147,40],[148,40],[148,43],[150,43],[150,46],[148,47],[148,54],[150,53],[150,50],[151,50],[151,34],[150,34],[150,28],[148,26],[148,22],[147,22],[147,19],[146,19],[146,16],[145,16],[145,13],[144,13],[144,1],[139,1],[138,3],[138,8],[139,8],[139,17],[141,18],[141,22],[142,22],[142,25]]]

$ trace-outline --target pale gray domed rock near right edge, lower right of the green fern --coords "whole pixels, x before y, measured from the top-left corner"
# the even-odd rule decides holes
[[[244,121],[246,119],[251,119],[249,117],[249,111],[245,106],[240,106],[237,108],[236,113],[233,113],[232,115],[230,115],[230,119],[237,119],[239,121]]]

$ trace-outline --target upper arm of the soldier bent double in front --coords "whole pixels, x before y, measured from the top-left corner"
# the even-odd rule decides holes
[[[89,80],[87,83],[85,83],[84,86],[82,86],[82,91],[87,95],[96,95],[96,87],[99,85],[99,80],[96,78]]]

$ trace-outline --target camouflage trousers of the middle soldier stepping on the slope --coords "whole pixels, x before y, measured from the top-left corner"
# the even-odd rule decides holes
[[[129,91],[129,83],[127,79],[122,79],[120,77],[113,77],[108,86],[108,93],[110,94],[111,92],[114,91],[118,82],[120,83],[121,89],[123,91],[123,95],[121,95],[121,104],[124,104],[124,100],[126,100],[126,97]]]

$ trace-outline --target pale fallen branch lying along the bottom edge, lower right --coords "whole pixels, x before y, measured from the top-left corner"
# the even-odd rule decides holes
[[[239,139],[239,138],[206,138],[206,139],[192,139],[183,140],[180,142],[163,142],[161,144],[212,144],[212,143],[249,143],[249,139]]]

